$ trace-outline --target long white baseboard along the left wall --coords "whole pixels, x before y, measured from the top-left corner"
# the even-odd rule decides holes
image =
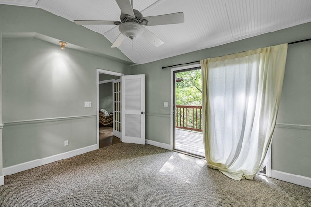
[[[91,146],[87,146],[87,147],[84,147],[84,148],[81,148],[81,149],[72,150],[72,151],[69,151],[69,152],[64,152],[64,153],[61,153],[61,154],[58,154],[58,155],[53,155],[53,156],[50,156],[50,157],[36,159],[36,160],[33,160],[33,161],[24,162],[24,163],[17,164],[17,165],[14,165],[14,166],[6,167],[6,168],[3,168],[3,175],[4,176],[12,175],[12,174],[24,171],[24,170],[29,170],[29,169],[32,169],[32,168],[35,168],[35,167],[39,167],[39,166],[42,166],[42,165],[46,165],[46,164],[49,164],[49,163],[52,163],[52,162],[55,162],[55,161],[59,161],[59,160],[62,160],[62,159],[67,159],[67,158],[70,158],[70,157],[73,157],[73,156],[76,156],[76,155],[81,155],[81,154],[84,154],[86,152],[90,152],[90,151],[93,151],[93,150],[96,150],[96,149],[98,149],[97,144],[91,145]],[[1,180],[0,180],[0,183],[1,183]],[[4,183],[4,179],[3,179],[3,183]]]

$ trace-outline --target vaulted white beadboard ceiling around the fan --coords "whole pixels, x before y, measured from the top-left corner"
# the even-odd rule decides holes
[[[69,21],[119,21],[121,13],[115,0],[0,0],[0,4],[39,7]],[[143,37],[133,42],[126,38],[119,49],[136,64],[311,21],[311,0],[134,0],[133,4],[143,16],[183,12],[185,18],[182,24],[148,27],[164,41],[157,48]],[[110,42],[120,33],[115,25],[86,27]]]

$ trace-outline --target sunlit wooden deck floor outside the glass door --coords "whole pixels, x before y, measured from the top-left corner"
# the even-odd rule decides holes
[[[175,149],[205,157],[202,133],[175,129]]]

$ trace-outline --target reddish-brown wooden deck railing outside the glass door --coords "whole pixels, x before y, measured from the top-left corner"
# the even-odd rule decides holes
[[[175,127],[202,132],[202,106],[176,105]]]

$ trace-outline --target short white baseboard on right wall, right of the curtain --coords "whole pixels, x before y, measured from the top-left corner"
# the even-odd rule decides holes
[[[301,186],[311,188],[311,178],[310,177],[304,177],[301,175],[285,173],[285,172],[278,171],[278,170],[271,170],[271,177],[278,179],[278,180],[283,180],[283,181],[286,181],[289,183],[294,183],[297,185],[301,185]]]

